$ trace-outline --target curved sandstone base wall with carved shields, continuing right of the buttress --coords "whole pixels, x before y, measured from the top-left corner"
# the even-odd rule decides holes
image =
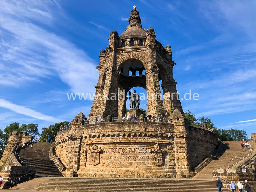
[[[191,157],[188,159],[192,168],[213,154],[218,143],[213,133],[190,128],[186,140],[187,152],[191,153],[188,155],[182,150],[183,144],[176,144],[174,139],[174,125],[168,123],[72,125],[70,130],[58,132],[55,152],[66,167],[62,172],[65,176],[175,178],[176,165],[182,165],[183,156]],[[208,150],[203,150],[203,146],[208,146]],[[200,153],[195,157],[195,152]],[[193,174],[184,172],[179,177]]]

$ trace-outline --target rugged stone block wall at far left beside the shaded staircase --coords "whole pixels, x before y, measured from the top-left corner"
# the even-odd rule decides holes
[[[7,145],[4,149],[3,156],[0,160],[0,165],[3,164],[3,161],[5,159],[9,158],[9,156],[12,153],[12,149],[15,145],[20,145],[20,144],[26,143],[28,141],[32,142],[32,139],[33,139],[33,136],[27,135],[26,131],[20,131],[19,133],[18,133],[18,131],[12,131],[9,134]]]

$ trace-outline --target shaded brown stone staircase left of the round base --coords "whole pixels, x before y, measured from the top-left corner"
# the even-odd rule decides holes
[[[33,149],[21,149],[20,158],[27,166],[35,167],[37,177],[61,177],[62,174],[49,158],[50,148],[54,143],[33,143]]]

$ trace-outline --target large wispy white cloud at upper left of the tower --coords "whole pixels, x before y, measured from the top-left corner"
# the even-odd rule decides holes
[[[33,23],[34,19],[44,23],[49,18],[54,22],[50,5],[2,1],[0,84],[21,86],[57,74],[73,92],[94,92],[95,61],[68,40]]]

